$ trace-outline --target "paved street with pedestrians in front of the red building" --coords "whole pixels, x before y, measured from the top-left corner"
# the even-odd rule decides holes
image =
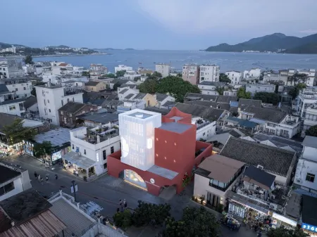
[[[24,169],[27,169],[30,174],[31,184],[35,190],[44,193],[46,196],[50,196],[51,193],[56,193],[60,188],[63,192],[70,193],[71,181],[75,180],[78,186],[78,193],[76,195],[77,201],[80,203],[87,203],[87,201],[92,200],[104,210],[101,214],[107,217],[112,217],[116,213],[116,209],[119,207],[119,200],[125,199],[128,203],[128,207],[136,208],[138,203],[137,200],[143,200],[148,203],[166,203],[159,197],[152,196],[151,194],[130,186],[125,183],[122,179],[116,179],[104,174],[92,182],[87,183],[80,178],[75,177],[66,170],[62,169],[61,166],[55,165],[54,169],[45,168],[44,165],[31,158],[28,155],[23,155],[23,157],[13,157],[8,158],[7,162],[11,162],[14,165],[20,165]],[[34,172],[41,175],[44,178],[44,183],[41,184],[37,179],[35,179]],[[45,181],[46,174],[49,176],[49,181]],[[56,180],[54,174],[58,174],[58,179]],[[169,203],[172,207],[171,214],[176,219],[182,216],[182,209],[187,206],[197,206],[190,200],[192,196],[192,186],[189,186],[185,191],[183,196],[175,196]],[[199,205],[198,205],[199,206]],[[211,211],[213,212],[213,211]],[[216,214],[218,214],[216,212]],[[223,237],[256,237],[256,233],[251,230],[246,230],[244,227],[240,231],[230,231],[229,229],[222,228]],[[265,237],[265,235],[263,235]]]

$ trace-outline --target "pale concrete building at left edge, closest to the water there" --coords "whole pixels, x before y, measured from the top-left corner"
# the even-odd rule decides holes
[[[10,59],[0,61],[0,79],[23,76],[24,70],[22,68],[22,63],[18,62],[18,60]]]

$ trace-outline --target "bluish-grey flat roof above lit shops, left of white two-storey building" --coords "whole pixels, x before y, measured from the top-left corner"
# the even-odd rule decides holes
[[[53,146],[62,146],[64,143],[70,141],[70,129],[58,127],[53,130],[49,130],[42,134],[37,134],[34,140],[37,143],[43,143],[43,141],[50,141]]]

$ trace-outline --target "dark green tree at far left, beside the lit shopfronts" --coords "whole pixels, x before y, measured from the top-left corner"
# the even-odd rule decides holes
[[[4,126],[4,134],[10,145],[20,143],[23,140],[33,139],[36,132],[29,127],[23,127],[23,120],[16,118],[12,124]]]

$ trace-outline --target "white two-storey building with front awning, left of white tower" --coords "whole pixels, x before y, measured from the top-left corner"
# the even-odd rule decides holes
[[[111,127],[87,127],[70,130],[70,146],[72,150],[63,155],[64,160],[72,162],[78,167],[87,170],[90,174],[99,176],[107,172],[107,155],[120,150],[120,136],[117,129]],[[99,132],[99,130],[104,132]]]

